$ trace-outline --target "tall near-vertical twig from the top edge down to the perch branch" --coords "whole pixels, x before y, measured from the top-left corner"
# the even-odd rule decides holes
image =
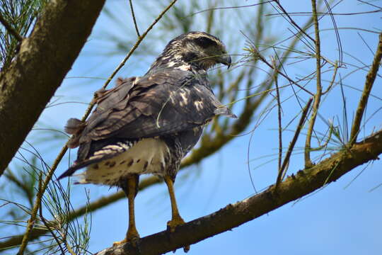
[[[314,124],[316,123],[318,108],[320,107],[320,100],[322,94],[322,86],[321,86],[321,53],[320,53],[320,28],[318,27],[318,18],[317,18],[317,9],[316,9],[316,0],[312,0],[312,11],[313,11],[313,23],[314,30],[316,33],[316,80],[317,80],[317,91],[314,95],[314,103],[313,103],[313,111],[311,120],[309,120],[308,132],[306,134],[306,142],[305,142],[305,167],[309,168],[313,166],[311,161],[311,140]]]

